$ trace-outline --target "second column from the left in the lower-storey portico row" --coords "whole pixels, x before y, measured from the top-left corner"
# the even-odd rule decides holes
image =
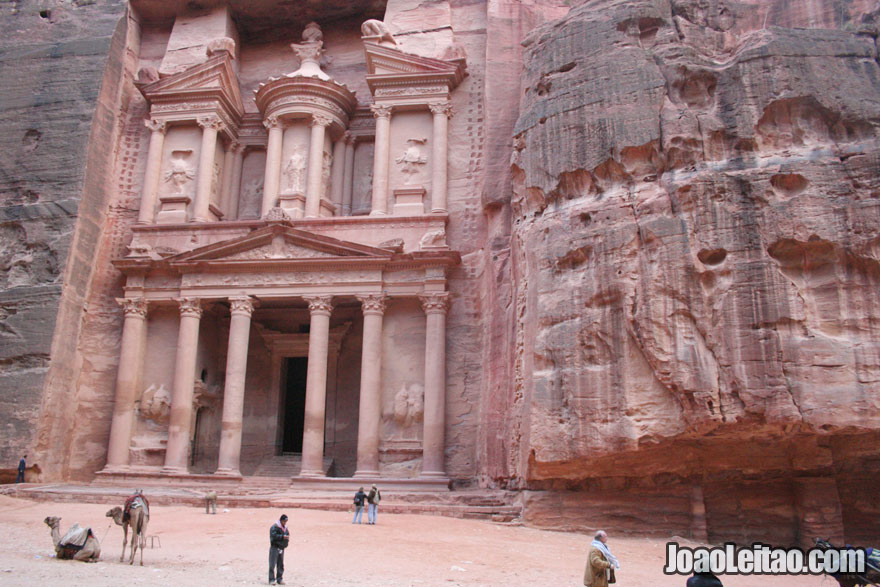
[[[193,382],[199,346],[199,321],[202,317],[198,298],[181,298],[180,329],[177,333],[177,356],[174,360],[174,383],[171,389],[171,419],[163,473],[186,473],[192,420]]]

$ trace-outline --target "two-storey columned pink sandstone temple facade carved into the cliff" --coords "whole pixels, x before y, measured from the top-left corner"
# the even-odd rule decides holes
[[[177,17],[140,69],[149,144],[112,260],[124,322],[99,477],[240,479],[288,456],[275,468],[296,477],[448,485],[448,121],[466,62],[403,51],[380,20],[359,32],[344,79],[310,22],[243,91],[264,64],[220,7]],[[193,39],[203,55],[175,53]]]

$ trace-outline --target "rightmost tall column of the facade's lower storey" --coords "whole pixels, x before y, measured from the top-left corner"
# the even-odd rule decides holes
[[[422,437],[422,477],[445,477],[446,430],[446,310],[449,293],[419,296],[425,323],[425,419]]]

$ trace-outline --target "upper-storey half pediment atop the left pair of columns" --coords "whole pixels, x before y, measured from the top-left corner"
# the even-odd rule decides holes
[[[238,76],[232,67],[232,58],[226,52],[215,55],[204,63],[141,86],[140,90],[151,103],[157,100],[185,101],[197,93],[219,93],[239,116],[244,113]]]

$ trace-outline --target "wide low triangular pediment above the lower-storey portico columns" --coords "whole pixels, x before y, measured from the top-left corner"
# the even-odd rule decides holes
[[[358,243],[272,224],[250,234],[206,245],[168,259],[172,265],[191,263],[237,264],[278,261],[390,259],[393,253]]]

